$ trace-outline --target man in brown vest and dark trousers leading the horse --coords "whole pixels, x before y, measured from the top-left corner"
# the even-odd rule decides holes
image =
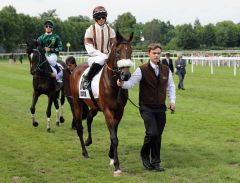
[[[165,105],[168,94],[169,108],[175,110],[175,85],[168,66],[160,63],[162,47],[152,43],[148,46],[149,61],[138,67],[128,81],[117,81],[123,89],[139,85],[140,114],[144,120],[145,138],[141,149],[143,166],[147,170],[164,171],[160,166],[162,132],[166,123]]]

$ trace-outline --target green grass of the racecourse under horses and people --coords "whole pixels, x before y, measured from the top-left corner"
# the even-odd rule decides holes
[[[66,122],[46,132],[47,97],[39,98],[31,124],[32,77],[29,65],[0,63],[0,183],[192,183],[240,182],[240,71],[232,68],[190,66],[185,91],[177,92],[175,114],[167,113],[162,142],[164,173],[142,167],[139,151],[144,125],[138,109],[128,102],[119,126],[121,177],[113,177],[108,165],[109,133],[101,113],[93,123],[89,159],[81,155],[79,140],[70,130],[71,114],[66,102]],[[177,84],[177,77],[174,76]],[[138,87],[130,90],[138,103]],[[86,123],[84,122],[86,129]],[[86,130],[84,131],[86,134]],[[85,135],[86,137],[86,135]]]

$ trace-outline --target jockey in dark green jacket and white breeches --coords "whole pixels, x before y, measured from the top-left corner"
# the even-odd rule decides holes
[[[53,33],[54,24],[51,20],[44,23],[45,33],[38,37],[42,50],[41,53],[46,57],[48,63],[53,69],[54,77],[57,82],[62,82],[62,70],[57,65],[57,55],[63,49],[62,41],[59,35]]]

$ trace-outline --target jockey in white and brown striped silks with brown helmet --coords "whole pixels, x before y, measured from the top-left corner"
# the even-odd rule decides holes
[[[93,10],[95,24],[88,27],[84,36],[84,45],[89,55],[90,69],[84,79],[84,86],[90,87],[92,78],[97,74],[108,59],[112,44],[115,42],[115,31],[106,24],[107,11],[103,6]]]

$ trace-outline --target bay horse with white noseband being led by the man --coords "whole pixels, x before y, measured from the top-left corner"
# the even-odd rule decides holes
[[[74,113],[77,123],[77,134],[82,147],[82,155],[83,157],[88,158],[86,146],[92,143],[91,124],[93,117],[98,111],[102,111],[110,133],[111,143],[108,156],[110,158],[110,164],[115,167],[114,176],[119,176],[122,173],[118,159],[117,130],[128,99],[128,90],[118,87],[117,79],[128,80],[130,78],[131,74],[129,68],[133,65],[130,60],[132,54],[132,38],[133,33],[130,35],[129,39],[126,40],[118,31],[116,32],[116,43],[113,44],[109,58],[103,66],[103,71],[101,73],[97,105],[94,104],[91,99],[79,98],[80,77],[88,67],[88,64],[77,67],[70,77],[70,87],[73,95]],[[128,63],[128,65],[125,63]],[[84,103],[90,107],[87,114],[88,138],[85,143],[82,126],[82,108]]]

